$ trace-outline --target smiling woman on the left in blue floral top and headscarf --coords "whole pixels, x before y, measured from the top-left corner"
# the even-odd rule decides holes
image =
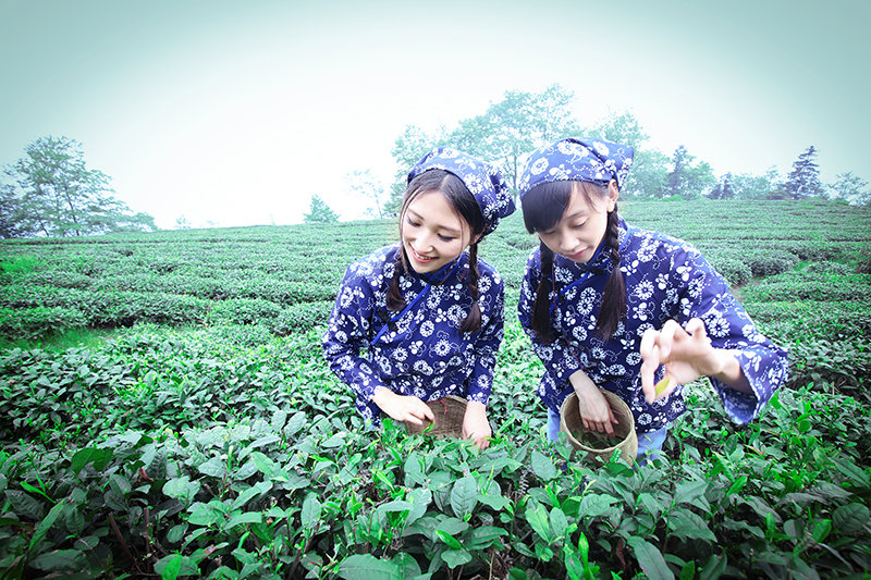
[[[400,243],[348,267],[323,335],[330,368],[372,424],[383,412],[420,425],[433,419],[425,402],[458,395],[463,436],[489,445],[504,286],[478,243],[513,211],[499,171],[479,159],[439,148],[412,169]]]

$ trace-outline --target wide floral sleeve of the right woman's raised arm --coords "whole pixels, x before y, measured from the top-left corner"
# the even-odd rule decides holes
[[[704,322],[715,348],[735,350],[752,393],[741,393],[711,379],[728,415],[747,423],[759,415],[787,377],[786,350],[760,334],[747,311],[729,292],[725,280],[691,245],[675,252],[671,269],[672,287],[680,287],[678,322],[691,318]]]

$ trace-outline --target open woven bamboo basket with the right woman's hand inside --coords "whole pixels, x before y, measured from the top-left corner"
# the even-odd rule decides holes
[[[560,431],[565,433],[569,443],[576,449],[584,452],[587,457],[608,460],[614,449],[619,449],[623,459],[633,465],[636,455],[638,455],[638,436],[635,433],[633,411],[629,410],[629,406],[622,398],[611,391],[603,388],[602,394],[608,399],[608,404],[611,405],[614,418],[618,421],[614,425],[614,436],[621,440],[619,443],[611,446],[591,446],[578,441],[575,433],[582,432],[588,442],[597,437],[602,437],[604,441],[604,435],[587,431],[584,428],[584,421],[580,419],[580,409],[578,409],[578,396],[575,393],[565,398],[560,409]]]

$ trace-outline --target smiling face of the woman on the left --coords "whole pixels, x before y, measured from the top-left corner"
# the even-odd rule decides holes
[[[402,217],[401,238],[408,263],[419,274],[436,272],[463,254],[469,226],[441,192],[422,192]]]

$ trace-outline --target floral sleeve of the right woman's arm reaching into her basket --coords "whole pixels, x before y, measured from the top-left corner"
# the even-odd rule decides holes
[[[536,304],[536,292],[541,276],[541,256],[537,249],[532,251],[526,263],[526,273],[520,285],[520,300],[517,305],[517,316],[520,320],[532,350],[541,359],[547,369],[545,381],[553,385],[565,385],[568,378],[580,370],[580,362],[564,336],[551,323],[551,332],[555,335],[551,341],[542,341],[532,330],[532,311]]]

